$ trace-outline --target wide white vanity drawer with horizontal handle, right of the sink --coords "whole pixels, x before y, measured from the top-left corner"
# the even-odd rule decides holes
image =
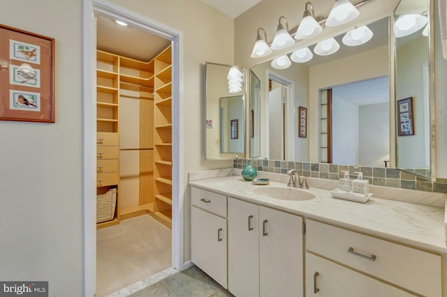
[[[307,251],[424,296],[441,296],[441,256],[307,220]]]

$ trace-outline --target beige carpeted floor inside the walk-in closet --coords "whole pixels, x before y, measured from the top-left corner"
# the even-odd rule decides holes
[[[96,232],[96,297],[170,268],[171,230],[150,215]]]

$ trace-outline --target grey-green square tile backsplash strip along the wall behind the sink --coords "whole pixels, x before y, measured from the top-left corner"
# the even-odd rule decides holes
[[[243,169],[245,166],[247,166],[247,159],[233,160],[234,168]],[[355,172],[363,172],[363,178],[367,179],[371,185],[447,193],[447,178],[437,178],[437,181],[432,182],[420,178],[415,174],[395,168],[256,159],[251,160],[251,166],[255,167],[258,171],[279,174],[285,174],[290,169],[298,169],[301,176],[312,176],[315,178],[332,180],[342,178],[344,176],[344,171],[349,171],[350,178],[357,177]]]

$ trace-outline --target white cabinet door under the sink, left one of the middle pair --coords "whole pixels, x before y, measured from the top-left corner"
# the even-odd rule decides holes
[[[228,197],[228,291],[259,296],[258,206]]]

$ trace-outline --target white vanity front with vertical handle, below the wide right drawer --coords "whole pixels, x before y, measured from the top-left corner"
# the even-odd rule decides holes
[[[306,296],[377,297],[416,296],[351,271],[332,261],[306,253]]]

